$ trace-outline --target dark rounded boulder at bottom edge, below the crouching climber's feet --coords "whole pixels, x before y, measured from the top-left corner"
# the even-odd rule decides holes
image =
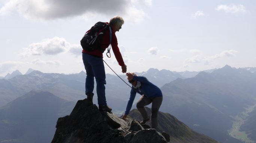
[[[129,143],[167,143],[164,136],[153,128],[138,131]]]

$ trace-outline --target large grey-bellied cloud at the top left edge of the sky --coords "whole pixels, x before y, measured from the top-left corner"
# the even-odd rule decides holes
[[[9,0],[0,12],[17,10],[27,18],[48,20],[82,15],[91,11],[113,14],[122,11],[126,4],[126,0],[108,0],[106,3],[100,0]]]

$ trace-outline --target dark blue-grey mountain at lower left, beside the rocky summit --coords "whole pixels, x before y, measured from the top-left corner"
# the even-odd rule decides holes
[[[74,105],[50,92],[30,91],[0,108],[0,142],[49,143],[57,119]]]

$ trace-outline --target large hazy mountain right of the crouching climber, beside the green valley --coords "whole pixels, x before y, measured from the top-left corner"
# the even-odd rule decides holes
[[[176,79],[161,87],[165,97],[161,110],[222,143],[239,143],[228,130],[235,116],[256,104],[255,75],[226,65],[212,73]]]

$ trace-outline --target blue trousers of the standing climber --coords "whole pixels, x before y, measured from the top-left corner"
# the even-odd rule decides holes
[[[97,96],[99,105],[107,105],[105,96],[106,74],[103,58],[95,57],[86,53],[82,54],[83,64],[86,70],[85,94],[92,94],[94,89],[94,77],[97,83]]]

